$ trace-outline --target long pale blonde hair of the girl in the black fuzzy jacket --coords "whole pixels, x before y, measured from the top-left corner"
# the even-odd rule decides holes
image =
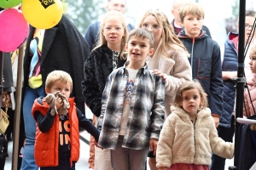
[[[116,16],[119,21],[121,21],[122,26],[124,27],[124,34],[125,35],[124,35],[124,37],[122,37],[122,42],[120,44],[120,46],[121,46],[120,57],[121,57],[121,59],[126,59],[125,43],[127,42],[129,31],[128,31],[128,28],[127,28],[126,23],[125,23],[124,14],[122,14],[118,11],[108,11],[108,13],[106,13],[104,15],[103,20],[100,24],[99,39],[96,42],[96,48],[102,47],[103,45],[106,45],[108,43],[106,38],[103,35],[103,31],[104,31],[104,27],[106,25],[106,20],[108,19],[108,17],[113,16],[113,15]],[[92,50],[95,50],[96,48],[93,48]]]

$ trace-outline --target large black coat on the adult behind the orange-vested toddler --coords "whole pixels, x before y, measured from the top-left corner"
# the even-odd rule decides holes
[[[29,46],[35,28],[30,26],[24,56],[24,86],[28,84],[29,67],[32,57],[29,56]],[[72,21],[63,14],[61,21],[53,28],[45,30],[41,56],[41,70],[43,86],[49,72],[55,70],[66,71],[73,79],[73,92],[75,103],[84,114],[84,96],[81,82],[83,81],[84,59],[89,56],[89,47],[84,37],[73,25]]]

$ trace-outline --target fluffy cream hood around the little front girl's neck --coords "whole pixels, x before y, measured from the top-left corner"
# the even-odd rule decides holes
[[[183,118],[189,118],[189,115],[187,114],[186,111],[184,111],[182,108],[180,107],[176,107],[176,106],[171,106],[171,111],[173,113],[175,113],[177,116],[179,117],[183,117]],[[197,113],[197,118],[202,118],[202,117],[206,117],[206,116],[211,116],[211,110],[209,108],[201,110]]]

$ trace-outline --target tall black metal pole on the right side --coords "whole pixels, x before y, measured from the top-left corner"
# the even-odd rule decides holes
[[[246,77],[244,77],[244,34],[245,34],[245,11],[246,1],[240,0],[239,6],[239,37],[238,37],[238,63],[237,63],[237,80],[236,80],[236,118],[242,117],[243,100],[244,100],[244,85]],[[234,167],[229,169],[237,169],[239,163],[239,150],[240,150],[240,135],[239,127],[240,123],[236,122],[236,133],[235,133],[235,156],[234,156]]]

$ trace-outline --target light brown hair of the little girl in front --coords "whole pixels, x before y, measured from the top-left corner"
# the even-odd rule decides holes
[[[177,88],[177,94],[175,96],[173,105],[183,108],[183,92],[191,89],[198,89],[202,103],[200,109],[206,109],[208,107],[207,94],[205,93],[204,89],[201,87],[201,83],[197,79],[194,79],[193,81],[183,82],[183,84],[179,88]]]

